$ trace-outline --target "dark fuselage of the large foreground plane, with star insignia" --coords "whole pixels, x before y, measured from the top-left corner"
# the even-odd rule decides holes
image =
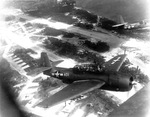
[[[73,82],[82,82],[85,80],[103,81],[105,85],[101,89],[114,90],[114,91],[128,91],[132,88],[130,77],[124,76],[119,73],[108,72],[104,69],[80,69],[80,68],[58,68],[56,70],[45,71],[44,74],[62,80],[66,84]]]

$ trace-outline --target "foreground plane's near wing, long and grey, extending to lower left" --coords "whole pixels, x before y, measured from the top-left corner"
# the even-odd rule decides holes
[[[100,88],[104,84],[105,82],[103,81],[74,82],[63,88],[61,91],[45,99],[44,101],[38,103],[36,106],[44,106],[44,107],[54,106],[61,102],[65,102],[69,99],[75,98],[81,94]]]

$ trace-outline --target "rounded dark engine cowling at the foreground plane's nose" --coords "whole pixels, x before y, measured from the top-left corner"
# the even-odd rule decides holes
[[[117,91],[129,91],[132,88],[133,77],[124,75],[110,75],[109,85]]]

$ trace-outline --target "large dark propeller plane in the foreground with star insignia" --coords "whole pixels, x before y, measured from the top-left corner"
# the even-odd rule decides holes
[[[54,66],[53,63],[55,62],[50,61],[47,54],[42,52],[42,66],[49,68],[43,70],[43,73],[68,85],[36,106],[51,107],[98,88],[112,91],[131,90],[133,77],[119,72],[125,59],[126,55],[122,54],[110,59],[103,65],[82,64],[73,68],[60,68]]]

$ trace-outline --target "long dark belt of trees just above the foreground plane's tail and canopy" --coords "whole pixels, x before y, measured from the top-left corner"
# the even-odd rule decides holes
[[[103,57],[97,56],[95,53],[86,50],[80,52],[75,45],[68,42],[62,42],[62,40],[58,40],[57,38],[48,38],[48,40],[45,40],[44,47],[54,51],[59,56],[72,58],[78,62],[92,61],[101,63],[104,61]]]

